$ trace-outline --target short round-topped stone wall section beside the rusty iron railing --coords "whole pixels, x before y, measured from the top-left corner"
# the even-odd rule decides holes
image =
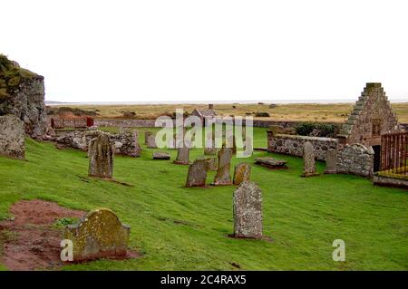
[[[374,150],[362,144],[345,145],[337,152],[336,171],[340,174],[372,177],[374,173]]]

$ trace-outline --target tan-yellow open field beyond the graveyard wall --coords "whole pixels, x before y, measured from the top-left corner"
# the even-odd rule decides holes
[[[270,117],[257,118],[260,120],[312,120],[312,121],[339,121],[347,119],[352,111],[354,103],[331,103],[331,104],[277,104],[269,107],[265,104],[215,104],[214,109],[219,115],[245,116],[256,112],[267,112]],[[408,122],[408,102],[393,103],[393,110],[400,122]],[[163,113],[171,114],[178,108],[184,111],[193,111],[195,108],[206,108],[206,104],[154,104],[154,105],[59,105],[71,108],[79,108],[85,111],[97,111],[99,118],[123,117],[123,111],[133,111],[137,119],[155,119]],[[58,106],[53,106],[58,107]]]

